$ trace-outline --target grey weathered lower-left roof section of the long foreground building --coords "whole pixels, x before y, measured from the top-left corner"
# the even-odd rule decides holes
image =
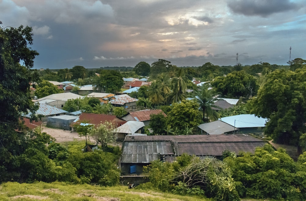
[[[121,163],[150,163],[158,160],[159,154],[174,154],[169,141],[125,142],[122,149]]]

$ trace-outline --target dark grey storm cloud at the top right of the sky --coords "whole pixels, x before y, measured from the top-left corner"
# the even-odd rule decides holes
[[[290,0],[229,0],[227,5],[234,13],[262,17],[298,9],[298,5]]]

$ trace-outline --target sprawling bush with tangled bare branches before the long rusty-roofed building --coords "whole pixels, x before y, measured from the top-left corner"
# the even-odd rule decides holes
[[[154,161],[144,167],[144,173],[152,185],[164,191],[239,200],[230,168],[218,159],[184,154],[173,163]]]

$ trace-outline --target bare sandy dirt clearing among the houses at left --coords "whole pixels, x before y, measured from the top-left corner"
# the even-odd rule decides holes
[[[64,131],[62,129],[47,128],[46,126],[42,126],[42,131],[54,137],[58,143],[73,141],[74,139],[85,140],[85,137],[79,137],[78,133],[70,132],[69,130]]]

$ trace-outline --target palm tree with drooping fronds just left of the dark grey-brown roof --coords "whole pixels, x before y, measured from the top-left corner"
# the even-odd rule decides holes
[[[218,106],[215,106],[214,103],[217,98],[215,96],[217,93],[215,93],[214,90],[209,90],[207,84],[203,84],[200,87],[200,90],[196,91],[196,100],[200,105],[200,109],[203,112],[203,122],[208,122],[208,119],[217,119],[218,114],[215,110],[212,109],[212,106],[215,108],[219,108]]]

